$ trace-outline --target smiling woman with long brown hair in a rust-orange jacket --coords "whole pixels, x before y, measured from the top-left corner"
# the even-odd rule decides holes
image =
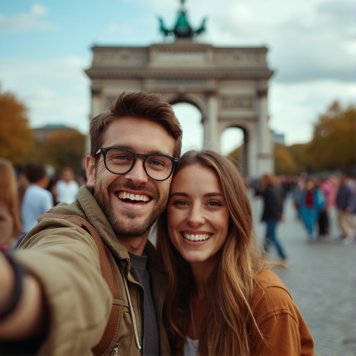
[[[314,355],[314,341],[262,259],[234,164],[213,151],[180,159],[157,248],[169,276],[165,313],[176,355]]]

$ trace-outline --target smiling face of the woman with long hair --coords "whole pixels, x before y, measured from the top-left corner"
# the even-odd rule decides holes
[[[223,247],[229,209],[211,168],[195,163],[175,175],[167,213],[170,241],[189,264],[207,261]]]

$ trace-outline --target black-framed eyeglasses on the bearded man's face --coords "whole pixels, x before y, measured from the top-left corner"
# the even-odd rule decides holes
[[[140,158],[146,174],[155,181],[168,179],[179,162],[179,159],[165,154],[140,154],[121,147],[100,148],[95,154],[99,153],[104,156],[106,169],[114,175],[125,175]]]

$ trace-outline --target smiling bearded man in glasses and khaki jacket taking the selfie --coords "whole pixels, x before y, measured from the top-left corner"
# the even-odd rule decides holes
[[[110,112],[92,120],[90,142],[87,186],[76,202],[52,212],[85,218],[95,228],[110,252],[120,299],[113,300],[88,232],[44,214],[15,261],[0,254],[0,339],[37,337],[38,355],[92,355],[116,303],[119,323],[105,354],[167,355],[165,275],[148,235],[168,200],[181,127],[157,95],[123,93]],[[11,277],[16,272],[17,282],[21,275],[18,263],[27,271],[22,296],[4,319],[14,298]]]

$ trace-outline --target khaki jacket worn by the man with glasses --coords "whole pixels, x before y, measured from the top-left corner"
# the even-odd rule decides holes
[[[141,355],[135,340],[131,312],[133,310],[135,314],[138,339],[142,345],[142,288],[130,273],[126,248],[116,238],[89,188],[81,187],[76,202],[58,204],[51,212],[85,218],[111,251],[110,260],[122,298],[122,322],[106,355]],[[147,241],[145,254],[159,325],[161,355],[165,356],[170,353],[168,337],[162,325],[167,278],[157,263],[156,250],[150,241]],[[113,255],[118,262],[115,262]],[[41,281],[49,310],[49,330],[38,355],[92,355],[92,348],[102,339],[113,301],[102,277],[99,252],[92,236],[67,220],[46,218],[44,214],[40,223],[26,234],[15,256]]]

